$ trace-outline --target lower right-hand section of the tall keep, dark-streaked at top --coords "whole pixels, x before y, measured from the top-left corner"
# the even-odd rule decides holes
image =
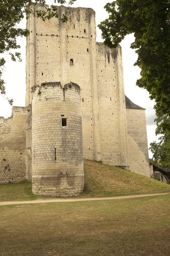
[[[128,166],[127,123],[121,47],[97,43],[100,140],[103,163]],[[117,70],[119,67],[119,70]],[[122,79],[122,81],[118,82]]]

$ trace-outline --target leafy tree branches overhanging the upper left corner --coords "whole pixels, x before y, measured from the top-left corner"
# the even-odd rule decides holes
[[[76,0],[54,0],[55,3],[72,5]],[[45,6],[45,0],[1,0],[0,1],[0,93],[5,94],[5,82],[2,79],[2,73],[4,70],[5,59],[3,58],[3,53],[8,52],[11,56],[12,61],[21,60],[20,52],[14,52],[16,49],[20,48],[17,44],[17,37],[28,36],[28,29],[20,29],[17,24],[24,18],[32,13],[31,5],[37,5],[41,3],[45,7],[45,11],[37,11],[37,17],[42,18],[42,20],[50,19],[51,17],[58,18],[57,6],[51,6],[47,8]],[[62,16],[62,21],[67,21],[65,15]],[[7,98],[8,99],[8,98]],[[12,105],[13,100],[8,99],[10,105]]]

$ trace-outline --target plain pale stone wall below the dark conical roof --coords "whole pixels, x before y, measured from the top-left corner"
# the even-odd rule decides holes
[[[144,109],[126,109],[130,171],[150,177]]]

